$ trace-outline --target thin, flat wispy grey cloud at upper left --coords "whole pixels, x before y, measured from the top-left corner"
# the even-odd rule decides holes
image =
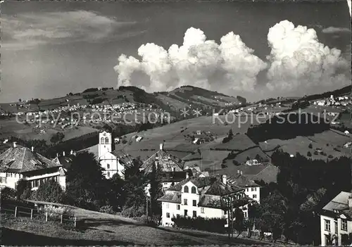
[[[48,43],[100,42],[103,39],[123,38],[140,33],[120,32],[120,28],[134,23],[119,22],[90,11],[35,15],[18,13],[15,17],[3,14],[0,20],[3,49],[31,49]]]

